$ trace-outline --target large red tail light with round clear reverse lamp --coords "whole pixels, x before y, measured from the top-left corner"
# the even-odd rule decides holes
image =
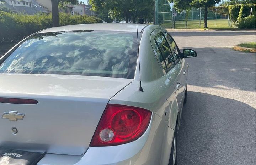
[[[148,128],[146,109],[108,104],[92,137],[91,146],[115,146],[138,139]]]

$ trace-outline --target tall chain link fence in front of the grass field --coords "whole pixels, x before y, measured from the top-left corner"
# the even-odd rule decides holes
[[[208,28],[231,27],[229,15],[219,15],[208,10],[207,19]],[[203,28],[204,8],[191,8],[187,12],[179,13],[173,8],[173,3],[169,3],[167,0],[156,0],[155,23],[165,28]]]

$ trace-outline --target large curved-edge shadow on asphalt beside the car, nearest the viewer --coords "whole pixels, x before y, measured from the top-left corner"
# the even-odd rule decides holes
[[[177,160],[178,165],[255,165],[255,108],[188,91]]]

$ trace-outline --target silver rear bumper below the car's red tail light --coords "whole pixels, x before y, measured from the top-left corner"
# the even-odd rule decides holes
[[[165,123],[152,114],[148,129],[137,140],[118,146],[89,147],[84,155],[46,154],[37,165],[156,165],[161,162]],[[159,130],[160,129],[160,130]],[[169,128],[170,129],[170,128]],[[171,132],[172,129],[170,129]]]

